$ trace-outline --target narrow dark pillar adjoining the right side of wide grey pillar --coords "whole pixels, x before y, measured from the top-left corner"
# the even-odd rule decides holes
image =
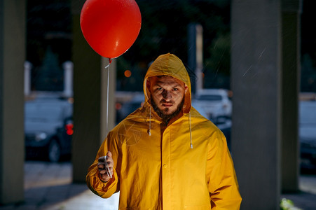
[[[281,189],[298,190],[298,92],[300,80],[300,0],[282,0]]]

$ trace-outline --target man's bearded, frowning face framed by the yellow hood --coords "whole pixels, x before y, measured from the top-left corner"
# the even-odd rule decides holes
[[[151,104],[163,120],[170,120],[181,111],[187,86],[172,76],[150,78]]]

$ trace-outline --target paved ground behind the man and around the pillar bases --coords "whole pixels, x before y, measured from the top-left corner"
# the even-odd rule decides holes
[[[84,183],[71,183],[71,163],[25,162],[25,202],[0,207],[0,210],[90,210],[118,209],[118,193],[102,199],[88,190]],[[300,177],[301,193],[286,194],[296,207],[316,209],[316,175]]]

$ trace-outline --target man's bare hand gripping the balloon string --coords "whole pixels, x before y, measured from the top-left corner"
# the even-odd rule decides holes
[[[98,161],[97,168],[99,169],[99,179],[107,182],[111,179],[113,174],[114,161],[112,159],[112,153],[108,151],[107,156],[100,157]]]

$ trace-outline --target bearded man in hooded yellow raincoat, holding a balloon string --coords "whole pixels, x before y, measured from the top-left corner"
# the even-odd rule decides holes
[[[239,209],[224,134],[191,106],[181,60],[160,55],[144,79],[144,105],[109,132],[86,182],[119,209]]]

